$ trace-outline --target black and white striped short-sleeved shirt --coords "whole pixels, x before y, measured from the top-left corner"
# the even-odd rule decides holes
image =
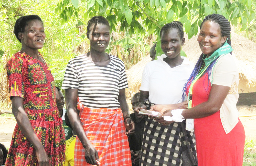
[[[84,54],[67,65],[62,89],[78,89],[81,103],[89,108],[119,108],[119,90],[128,88],[124,63],[110,55],[107,66],[95,65]]]

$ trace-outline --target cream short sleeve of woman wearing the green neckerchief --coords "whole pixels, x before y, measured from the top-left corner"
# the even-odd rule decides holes
[[[212,84],[231,86],[234,77],[238,74],[233,57],[228,54],[221,57],[213,68]]]

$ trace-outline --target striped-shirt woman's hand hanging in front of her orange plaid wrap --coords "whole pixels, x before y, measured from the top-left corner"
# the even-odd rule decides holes
[[[98,151],[95,149],[95,147],[91,144],[91,142],[87,142],[87,146],[84,147],[85,154],[84,158],[86,159],[86,162],[91,165],[100,165],[96,160],[100,161]]]

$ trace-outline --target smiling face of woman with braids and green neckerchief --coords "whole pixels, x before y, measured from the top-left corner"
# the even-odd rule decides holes
[[[219,49],[225,42],[227,36],[222,36],[220,25],[214,21],[205,21],[202,24],[200,33],[197,37],[199,47],[203,54],[209,57],[217,49]]]

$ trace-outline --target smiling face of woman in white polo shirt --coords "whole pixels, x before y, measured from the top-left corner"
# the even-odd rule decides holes
[[[180,39],[177,29],[171,28],[163,30],[161,34],[161,48],[169,59],[180,57],[181,46],[183,46],[184,43],[185,38]]]

